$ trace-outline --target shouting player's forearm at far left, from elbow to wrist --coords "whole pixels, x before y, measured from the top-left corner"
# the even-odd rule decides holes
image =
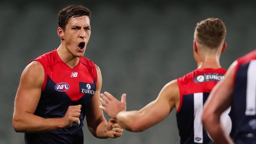
[[[42,118],[32,113],[15,114],[13,127],[16,132],[31,133],[64,128],[61,118]]]

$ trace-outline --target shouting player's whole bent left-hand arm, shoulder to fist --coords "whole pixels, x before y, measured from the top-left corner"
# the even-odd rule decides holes
[[[63,118],[42,118],[33,114],[41,96],[44,78],[43,66],[37,61],[30,63],[22,72],[13,113],[16,132],[52,131],[70,127],[73,121],[79,122],[81,105],[70,106]]]

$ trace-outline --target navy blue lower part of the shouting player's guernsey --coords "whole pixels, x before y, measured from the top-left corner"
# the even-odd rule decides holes
[[[90,96],[83,96],[73,102],[65,92],[58,92],[54,89],[56,83],[49,77],[45,90],[35,110],[35,115],[43,118],[61,118],[70,105],[82,105],[79,116],[80,124],[73,123],[69,128],[58,129],[43,133],[25,133],[26,144],[83,144],[83,120],[87,105],[91,101]]]

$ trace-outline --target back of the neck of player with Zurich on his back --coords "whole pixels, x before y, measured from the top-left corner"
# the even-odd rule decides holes
[[[197,68],[221,68],[217,55],[206,55],[197,61]]]

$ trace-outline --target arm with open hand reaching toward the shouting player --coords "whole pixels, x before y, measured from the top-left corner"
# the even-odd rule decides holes
[[[144,131],[162,121],[177,107],[179,102],[179,89],[176,80],[167,83],[160,91],[158,98],[148,103],[139,111],[126,111],[125,95],[118,101],[108,92],[101,94],[100,108],[129,131]]]

